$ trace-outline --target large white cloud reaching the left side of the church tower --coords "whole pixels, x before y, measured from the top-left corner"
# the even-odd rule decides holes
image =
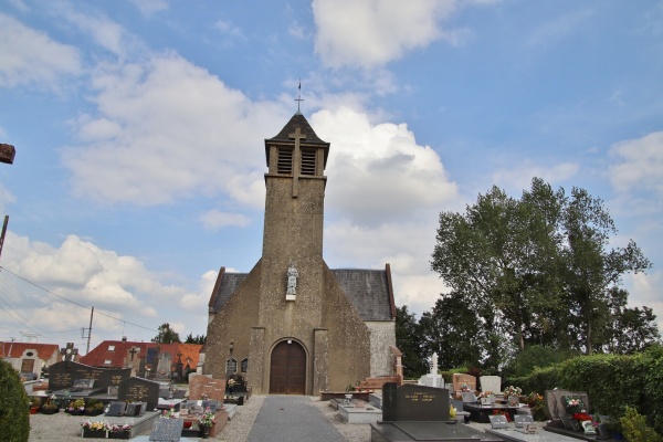
[[[104,64],[94,78],[97,115],[73,123],[85,144],[62,152],[76,194],[138,206],[201,192],[262,201],[255,171],[264,169],[264,134],[286,119],[278,104],[251,102],[177,55]],[[246,175],[255,182],[240,191],[236,177]]]

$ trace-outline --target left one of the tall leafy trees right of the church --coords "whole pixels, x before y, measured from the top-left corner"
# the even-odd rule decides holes
[[[534,319],[559,305],[560,210],[559,192],[535,179],[523,200],[493,187],[464,214],[440,214],[431,267],[482,317],[488,357],[497,357],[503,336],[522,350],[528,337],[548,333]]]

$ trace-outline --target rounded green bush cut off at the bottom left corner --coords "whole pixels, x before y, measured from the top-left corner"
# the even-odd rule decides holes
[[[0,360],[0,429],[2,429],[3,441],[28,441],[30,435],[29,402],[19,373],[9,362]]]

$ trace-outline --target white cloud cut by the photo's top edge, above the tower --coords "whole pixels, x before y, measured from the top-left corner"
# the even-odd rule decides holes
[[[314,0],[315,52],[325,64],[373,67],[425,48],[445,33],[439,22],[455,0]]]

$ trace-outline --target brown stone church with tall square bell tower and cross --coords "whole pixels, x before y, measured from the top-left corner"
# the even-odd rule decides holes
[[[345,391],[396,370],[396,305],[383,270],[323,259],[329,143],[299,110],[265,139],[262,257],[221,267],[209,302],[203,373],[242,375],[255,394]]]

